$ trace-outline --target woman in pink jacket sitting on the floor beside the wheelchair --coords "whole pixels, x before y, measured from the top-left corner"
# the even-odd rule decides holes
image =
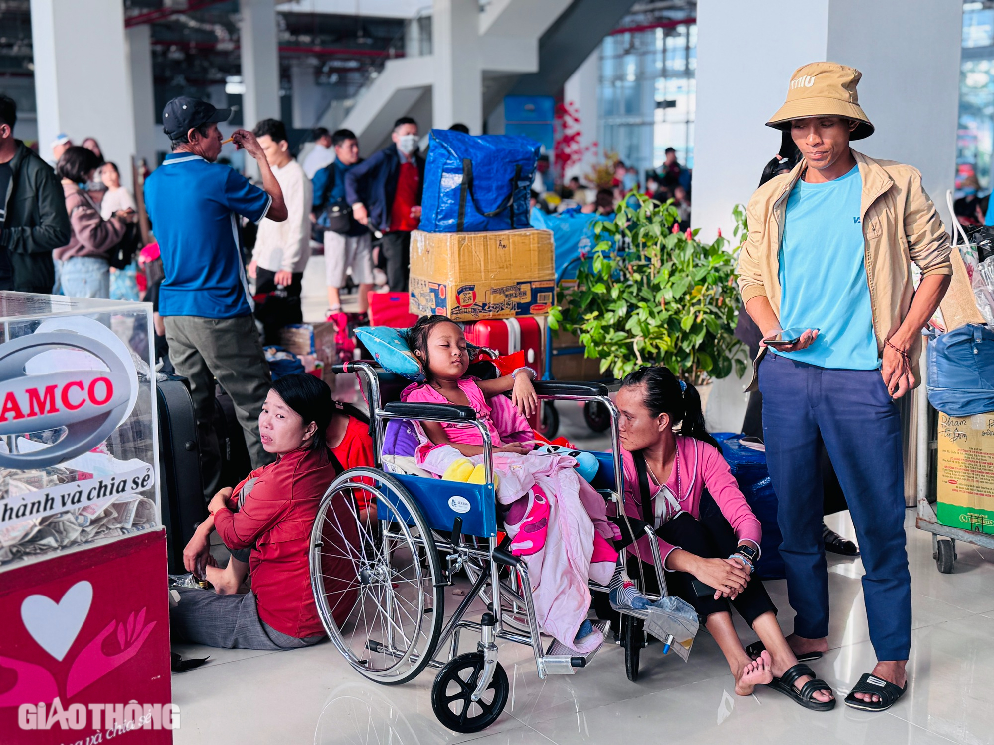
[[[692,606],[722,649],[736,693],[767,684],[802,706],[835,706],[829,685],[799,663],[776,621],[776,607],[752,576],[761,530],[718,443],[701,396],[666,368],[629,373],[617,394],[629,522],[651,524],[669,591]],[[636,534],[639,527],[633,524]],[[651,560],[647,537],[634,551]],[[731,605],[759,637],[754,660],[732,623]]]

